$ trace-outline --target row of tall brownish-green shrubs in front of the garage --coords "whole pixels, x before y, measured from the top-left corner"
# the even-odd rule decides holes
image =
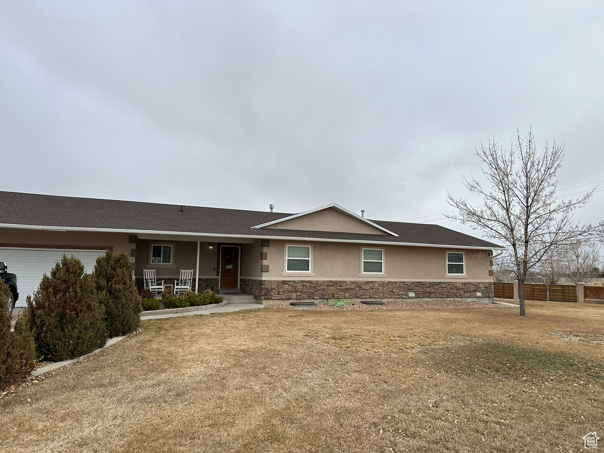
[[[128,255],[107,251],[92,274],[84,270],[79,259],[63,255],[27,297],[14,332],[8,286],[0,280],[0,390],[27,376],[36,358],[73,359],[138,329],[141,304]]]

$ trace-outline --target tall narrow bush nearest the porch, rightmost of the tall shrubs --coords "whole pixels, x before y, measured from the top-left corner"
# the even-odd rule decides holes
[[[141,303],[132,278],[132,265],[126,252],[108,250],[97,258],[94,281],[98,302],[105,308],[105,325],[110,337],[126,335],[138,329]]]

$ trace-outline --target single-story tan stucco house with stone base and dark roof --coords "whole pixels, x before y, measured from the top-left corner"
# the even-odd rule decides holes
[[[193,289],[290,299],[493,297],[501,246],[425,223],[368,220],[336,204],[298,214],[0,191],[0,261],[25,305],[63,253],[92,271],[126,251],[138,286],[193,269]],[[271,210],[272,211],[272,210]]]

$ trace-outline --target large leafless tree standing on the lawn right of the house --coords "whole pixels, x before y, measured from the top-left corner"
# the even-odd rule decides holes
[[[591,199],[593,190],[576,199],[559,199],[556,173],[564,158],[564,144],[554,141],[549,146],[546,142],[539,152],[532,129],[525,138],[518,132],[515,146],[509,151],[493,138],[487,147],[481,143],[476,153],[483,162],[488,184],[483,187],[472,176],[469,180],[464,178],[464,185],[481,196],[482,205],[475,207],[448,193],[454,210],[447,217],[469,224],[508,247],[500,257],[500,267],[513,271],[518,279],[520,315],[526,316],[527,272],[559,254],[571,242],[594,233],[594,226],[573,220],[573,211]]]

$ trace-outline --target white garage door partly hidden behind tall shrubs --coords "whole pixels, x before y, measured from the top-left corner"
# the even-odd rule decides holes
[[[27,298],[27,295],[33,295],[42,280],[42,275],[44,273],[50,274],[50,270],[61,259],[63,253],[67,256],[74,255],[74,257],[82,260],[86,272],[90,273],[94,270],[97,257],[104,255],[105,251],[0,247],[0,261],[7,264],[8,272],[17,276],[19,300],[16,306],[26,306],[25,298]]]

